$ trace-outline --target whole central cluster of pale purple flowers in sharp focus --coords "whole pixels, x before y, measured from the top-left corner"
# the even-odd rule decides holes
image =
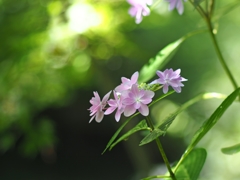
[[[89,108],[91,122],[94,118],[96,122],[101,122],[104,115],[109,115],[116,110],[115,119],[118,122],[121,115],[129,117],[136,111],[143,116],[148,116],[149,108],[148,104],[152,102],[152,98],[155,93],[153,89],[156,85],[163,87],[163,93],[168,92],[168,86],[177,92],[181,92],[181,87],[184,85],[182,81],[187,79],[180,76],[181,70],[173,71],[172,69],[166,69],[164,72],[157,71],[158,79],[154,80],[147,86],[138,84],[139,73],[135,72],[130,79],[122,77],[122,83],[113,90],[114,99],[109,99],[111,91],[108,92],[101,100],[99,94],[94,92],[94,97],[90,100],[92,106]],[[151,88],[154,87],[154,88]],[[108,107],[106,107],[108,105]]]

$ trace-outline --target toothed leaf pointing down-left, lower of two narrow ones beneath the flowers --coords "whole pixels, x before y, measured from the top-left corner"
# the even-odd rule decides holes
[[[114,146],[116,146],[119,142],[127,139],[129,136],[131,136],[132,134],[138,132],[138,131],[142,131],[142,130],[149,130],[151,131],[151,128],[148,127],[146,120],[142,120],[141,122],[139,122],[134,128],[132,128],[130,131],[128,131],[127,133],[125,133],[124,135],[122,135],[118,140],[116,140],[109,148],[109,150],[111,150]]]

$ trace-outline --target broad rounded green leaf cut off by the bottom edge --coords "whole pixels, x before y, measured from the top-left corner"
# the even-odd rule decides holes
[[[175,172],[177,180],[197,180],[207,157],[203,148],[192,150]]]

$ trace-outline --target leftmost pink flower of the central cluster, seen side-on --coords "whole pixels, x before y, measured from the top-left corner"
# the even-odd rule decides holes
[[[92,97],[92,99],[90,100],[90,103],[92,104],[92,106],[89,108],[90,110],[90,116],[92,116],[92,118],[90,119],[89,123],[95,118],[95,120],[97,122],[101,122],[104,116],[104,108],[107,105],[107,100],[110,96],[110,92],[108,92],[102,99],[100,99],[98,92],[93,92],[94,97]]]

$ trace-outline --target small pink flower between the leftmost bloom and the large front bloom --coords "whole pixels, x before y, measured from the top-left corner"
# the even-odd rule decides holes
[[[116,114],[115,114],[115,119],[118,122],[121,118],[121,114],[124,111],[124,105],[122,104],[122,98],[123,96],[121,95],[117,95],[117,93],[114,91],[114,98],[115,99],[110,99],[108,101],[108,105],[110,106],[109,108],[107,108],[107,110],[105,111],[105,115],[111,114],[115,109],[117,109]]]

